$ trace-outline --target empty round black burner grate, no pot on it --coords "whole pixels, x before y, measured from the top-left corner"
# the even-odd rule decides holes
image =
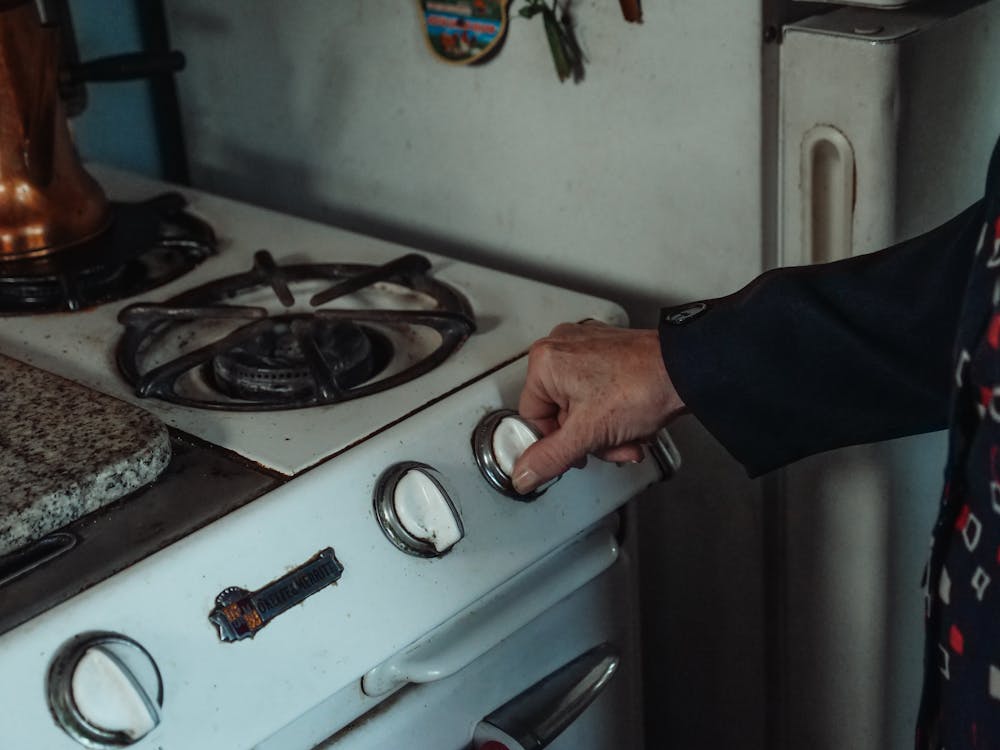
[[[300,409],[378,393],[437,367],[475,331],[465,298],[429,270],[417,254],[382,266],[280,266],[260,250],[246,273],[123,309],[118,366],[137,395],[204,409]],[[321,307],[370,290],[399,305]],[[305,311],[289,310],[296,293]],[[413,300],[424,306],[410,309]]]

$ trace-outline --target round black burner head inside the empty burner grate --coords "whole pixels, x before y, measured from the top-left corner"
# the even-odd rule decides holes
[[[392,359],[385,336],[355,323],[297,316],[272,323],[212,358],[212,377],[226,395],[267,403],[314,397],[323,383],[347,390]]]

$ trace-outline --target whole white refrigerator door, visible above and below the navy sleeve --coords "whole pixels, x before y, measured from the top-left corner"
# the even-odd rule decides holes
[[[836,260],[928,231],[978,200],[1000,133],[1000,2],[844,8],[781,47],[779,258]],[[943,434],[835,451],[784,472],[781,747],[912,747],[919,581]]]

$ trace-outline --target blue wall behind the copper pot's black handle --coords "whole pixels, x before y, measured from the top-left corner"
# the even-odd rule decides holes
[[[135,0],[71,0],[70,10],[81,60],[142,49]],[[163,176],[146,81],[87,84],[87,108],[72,127],[84,160]]]

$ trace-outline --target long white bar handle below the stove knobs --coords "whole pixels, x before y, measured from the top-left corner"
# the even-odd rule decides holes
[[[542,558],[361,679],[369,696],[455,674],[543,612],[607,570],[618,559],[617,521]]]

